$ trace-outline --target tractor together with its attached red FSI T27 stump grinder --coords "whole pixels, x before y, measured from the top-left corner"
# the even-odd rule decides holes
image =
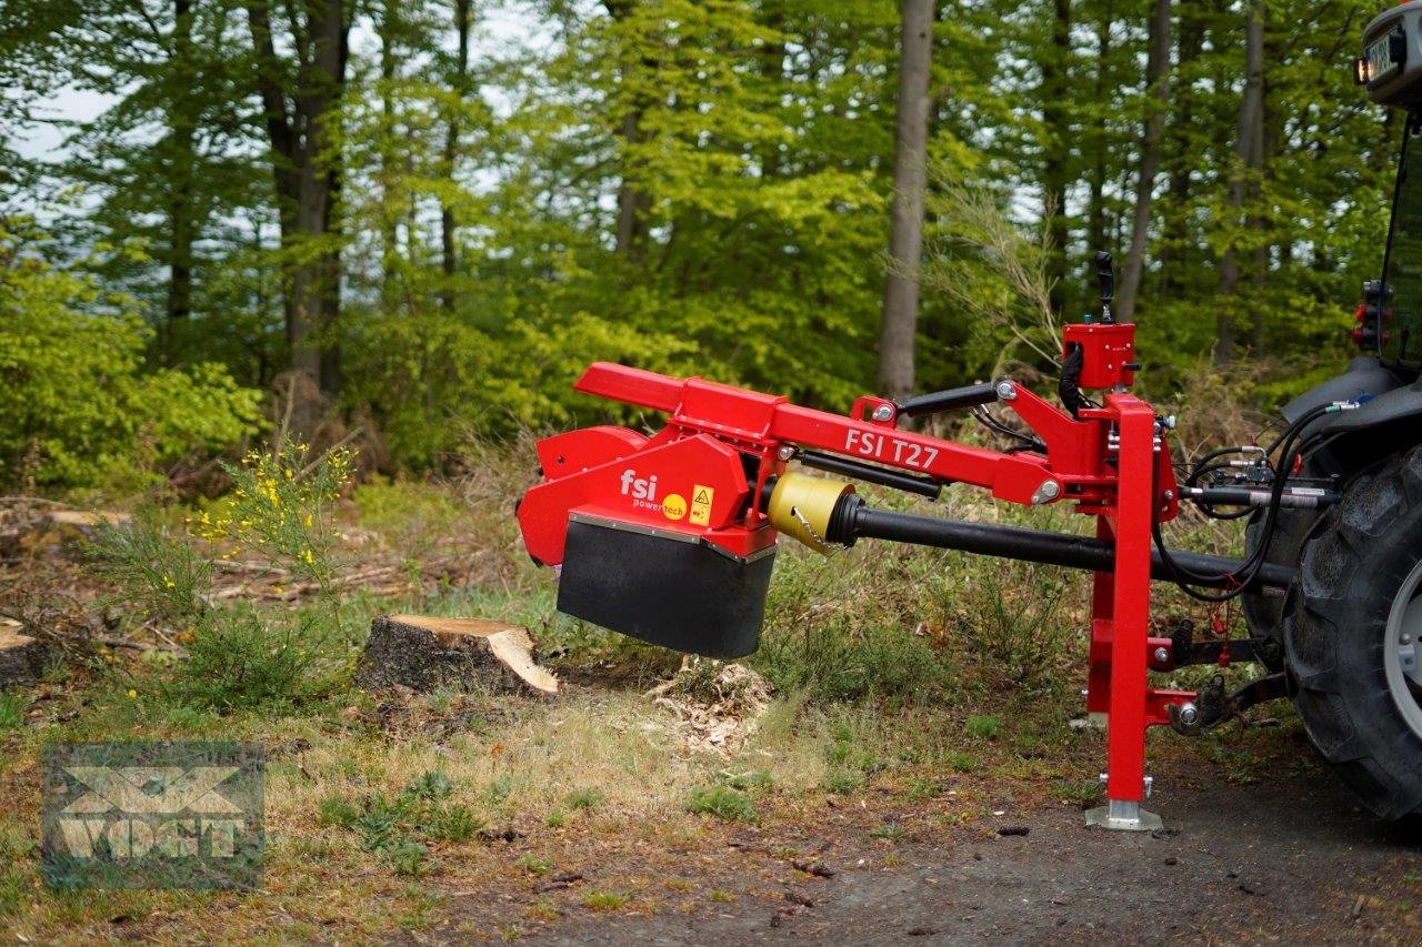
[[[667,418],[650,435],[600,425],[538,444],[539,482],[516,516],[529,555],[557,573],[557,609],[735,658],[757,647],[781,535],[823,553],[887,540],[1082,569],[1092,574],[1085,710],[1105,725],[1108,752],[1106,805],[1088,823],[1162,825],[1142,808],[1148,728],[1197,735],[1278,698],[1293,700],[1368,809],[1422,813],[1422,145],[1411,145],[1422,134],[1422,0],[1367,26],[1354,73],[1372,101],[1406,115],[1382,272],[1357,310],[1359,354],[1285,405],[1267,444],[1173,461],[1175,419],[1130,392],[1142,363],[1135,326],[1113,317],[1105,253],[1101,311],[1062,327],[1049,397],[997,378],[903,401],[862,395],[836,414],[597,363],[577,391]],[[948,411],[971,412],[1011,446],[914,424]],[[1003,502],[1066,505],[1094,530],[875,509],[852,481],[929,499],[977,486]],[[1244,556],[1167,547],[1162,525],[1182,503],[1244,523]],[[1240,600],[1247,637],[1153,626],[1153,582],[1212,607]],[[1219,674],[1193,691],[1150,677],[1230,663],[1257,674],[1229,692]]]

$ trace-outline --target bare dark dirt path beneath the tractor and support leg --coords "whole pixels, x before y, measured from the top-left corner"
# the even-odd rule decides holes
[[[1422,941],[1416,826],[1379,826],[1322,774],[1253,786],[1214,768],[1167,776],[1152,808],[1169,828],[1155,835],[1088,830],[1062,805],[1000,819],[1027,835],[974,828],[892,846],[842,820],[818,845],[815,833],[731,830],[722,855],[647,853],[656,863],[640,867],[681,879],[681,903],[599,914],[567,897],[520,933],[550,944]],[[798,870],[792,845],[825,846],[832,877]],[[607,879],[629,857],[590,853],[583,873]],[[451,909],[464,913],[458,899]]]

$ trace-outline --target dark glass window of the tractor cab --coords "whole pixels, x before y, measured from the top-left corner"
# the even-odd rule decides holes
[[[1422,114],[1409,112],[1382,280],[1382,360],[1422,363]]]

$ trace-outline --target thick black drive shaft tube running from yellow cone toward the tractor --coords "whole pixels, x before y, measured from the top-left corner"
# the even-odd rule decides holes
[[[855,539],[887,539],[917,546],[958,549],[961,552],[1001,559],[1039,562],[1047,566],[1111,572],[1115,563],[1115,547],[1105,540],[1069,533],[1051,533],[1020,526],[993,526],[961,519],[939,519],[937,516],[914,516],[869,509],[853,496],[842,501],[832,522],[830,542],[853,542]],[[1244,563],[1224,556],[1172,552],[1170,557],[1192,573],[1210,579],[1190,579],[1192,584],[1209,589],[1226,589],[1233,583],[1230,574],[1239,573]],[[1246,584],[1249,592],[1261,589],[1285,590],[1294,580],[1295,570],[1288,566],[1264,563],[1258,573]],[[1169,567],[1160,560],[1160,553],[1150,549],[1150,577],[1172,579]]]

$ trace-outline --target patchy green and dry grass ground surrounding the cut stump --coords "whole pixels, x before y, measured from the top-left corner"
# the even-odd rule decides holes
[[[718,833],[747,823],[799,830],[828,803],[853,812],[860,802],[900,806],[869,809],[856,829],[894,842],[906,830],[906,802],[926,803],[944,828],[971,823],[1005,792],[1088,802],[1081,781],[1095,772],[1099,735],[1062,724],[1078,708],[1082,576],[1011,565],[988,580],[1003,563],[983,569],[983,560],[886,543],[862,543],[833,560],[785,549],[762,648],[748,658],[776,684],[775,702],[744,747],[702,754],[681,747],[670,715],[644,697],[675,668],[675,656],[555,613],[549,576],[522,556],[508,516],[519,465],[530,469],[532,458],[502,458],[495,474],[464,483],[363,486],[341,513],[341,530],[373,533],[363,540],[368,547],[417,565],[451,547],[476,553],[486,570],[476,582],[404,597],[343,596],[338,619],[316,604],[235,610],[223,619],[233,627],[213,626],[206,638],[193,628],[185,641],[210,654],[210,670],[115,653],[71,664],[67,680],[46,684],[43,701],[0,694],[0,798],[17,801],[0,812],[0,917],[9,933],[33,941],[112,937],[108,919],[127,916],[151,919],[141,936],[152,940],[368,938],[444,919],[447,906],[432,890],[499,879],[526,886],[515,920],[552,921],[579,904],[640,909],[643,889],[620,877],[589,892],[535,890],[577,867],[569,855],[604,846],[720,850]],[[865,492],[877,506],[917,509],[913,499]],[[1028,522],[1020,510],[966,496],[953,493],[934,512]],[[1076,525],[1061,512],[1042,515],[1047,522],[1031,522]],[[159,539],[171,542],[165,529]],[[448,542],[429,545],[447,530]],[[166,556],[155,559],[158,586],[164,569],[179,567],[192,582],[175,584],[201,584],[201,559],[142,542],[149,555]],[[181,603],[164,604],[161,589],[149,589],[158,604],[132,621],[162,626],[154,616]],[[546,704],[353,691],[353,643],[373,614],[395,610],[523,624],[542,658],[580,687]],[[317,638],[326,644],[313,648]],[[317,657],[293,670],[282,664],[283,643],[289,654],[306,647]],[[220,687],[198,680],[203,674]],[[270,683],[260,688],[267,697],[237,698],[229,681],[246,674]],[[41,742],[176,738],[269,748],[267,890],[232,897],[40,889],[33,826]],[[1240,776],[1256,768],[1249,748],[1221,741],[1210,752]],[[506,833],[516,840],[501,840]],[[705,897],[728,903],[739,894],[712,889]],[[508,923],[475,927],[492,937]]]

